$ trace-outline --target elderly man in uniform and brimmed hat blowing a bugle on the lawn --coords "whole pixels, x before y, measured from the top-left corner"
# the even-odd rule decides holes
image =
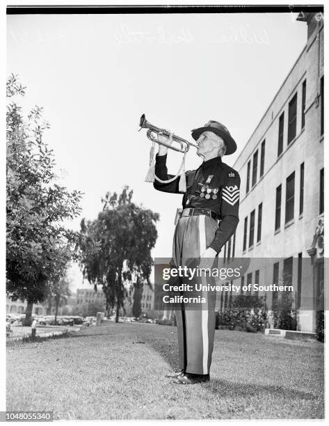
[[[170,141],[159,135],[159,141]],[[200,258],[207,262],[216,258],[227,239],[234,234],[239,222],[240,177],[223,163],[223,155],[236,150],[236,143],[227,128],[217,121],[192,130],[198,145],[197,154],[203,162],[199,168],[185,173],[186,193],[183,211],[175,228],[172,260],[176,266],[183,259]],[[170,180],[166,157],[168,148],[159,145],[155,174],[160,180]],[[179,193],[179,178],[169,183],[154,182],[159,191]],[[218,220],[219,226],[218,226]],[[216,298],[208,298],[202,310],[175,310],[179,345],[180,371],[168,374],[177,384],[209,381],[211,354],[214,347]]]

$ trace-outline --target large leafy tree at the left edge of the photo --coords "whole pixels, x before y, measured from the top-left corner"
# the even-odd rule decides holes
[[[77,233],[63,226],[81,212],[79,191],[56,183],[54,153],[43,140],[49,124],[42,108],[27,119],[13,101],[25,88],[13,74],[7,81],[6,278],[13,300],[27,301],[25,324],[31,324],[33,303],[51,292],[74,256]]]

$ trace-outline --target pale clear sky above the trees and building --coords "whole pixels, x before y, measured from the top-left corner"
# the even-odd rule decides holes
[[[159,212],[153,257],[168,258],[182,195],[145,180],[151,143],[139,118],[191,139],[209,120],[246,145],[307,41],[296,13],[159,15],[20,15],[7,17],[7,74],[18,74],[24,113],[44,108],[61,184],[83,192],[82,213],[95,219],[107,191]],[[168,171],[182,156],[170,151]],[[186,170],[201,162],[191,148]],[[79,267],[72,289],[86,287]]]

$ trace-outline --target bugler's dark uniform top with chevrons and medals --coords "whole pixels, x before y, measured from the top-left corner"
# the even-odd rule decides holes
[[[161,180],[174,177],[168,175],[166,159],[167,155],[156,156],[155,174]],[[186,193],[182,200],[183,208],[208,208],[218,214],[220,223],[209,247],[219,253],[239,223],[239,173],[223,163],[220,157],[216,157],[204,161],[196,170],[186,171],[185,176]],[[154,180],[154,188],[163,192],[179,194],[178,185],[179,177],[170,183]],[[205,194],[209,194],[210,198]]]

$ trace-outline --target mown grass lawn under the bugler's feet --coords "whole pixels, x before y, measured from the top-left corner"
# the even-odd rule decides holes
[[[176,328],[106,324],[7,349],[7,410],[54,419],[323,418],[323,344],[216,330],[211,381],[173,384]],[[142,343],[145,342],[145,343]]]

